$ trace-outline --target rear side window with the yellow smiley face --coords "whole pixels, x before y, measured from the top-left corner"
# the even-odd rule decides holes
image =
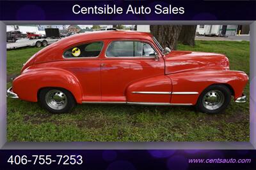
[[[86,43],[74,46],[63,53],[65,58],[98,57],[103,47],[103,42]]]

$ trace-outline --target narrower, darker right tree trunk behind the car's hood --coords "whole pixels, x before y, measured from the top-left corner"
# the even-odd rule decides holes
[[[182,25],[178,41],[183,45],[195,46],[196,25]]]

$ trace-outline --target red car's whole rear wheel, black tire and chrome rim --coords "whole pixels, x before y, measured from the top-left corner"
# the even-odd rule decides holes
[[[40,104],[51,113],[67,113],[76,104],[73,95],[61,88],[45,88],[40,90]]]

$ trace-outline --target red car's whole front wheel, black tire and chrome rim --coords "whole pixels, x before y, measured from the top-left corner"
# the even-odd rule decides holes
[[[217,100],[215,105],[211,103],[212,102],[211,96],[208,96],[208,95],[213,95],[212,99]],[[218,96],[218,97],[216,98],[214,96]],[[207,100],[210,100],[210,101],[207,101]],[[196,110],[203,113],[211,113],[211,114],[221,113],[227,108],[228,104],[230,103],[230,100],[231,100],[231,92],[227,86],[211,85],[210,87],[207,87],[198,97],[198,101],[196,103]]]

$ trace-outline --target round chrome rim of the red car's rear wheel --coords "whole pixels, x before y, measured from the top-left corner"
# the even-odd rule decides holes
[[[67,106],[67,96],[61,90],[49,90],[45,95],[45,101],[54,110],[62,110]]]

